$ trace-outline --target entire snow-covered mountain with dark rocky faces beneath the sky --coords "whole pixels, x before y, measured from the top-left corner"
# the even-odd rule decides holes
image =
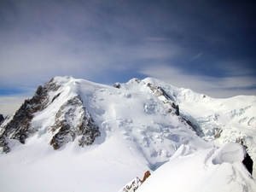
[[[255,96],[214,99],[150,78],[112,87],[56,77],[0,125],[0,189],[129,191],[125,183],[135,177],[137,191],[148,191],[160,175],[179,174],[172,173],[176,165],[189,172],[198,161],[194,189],[208,178],[207,186],[222,191],[227,185],[253,191],[255,180],[241,161],[247,153],[256,160],[255,114]],[[247,152],[224,147],[230,142]],[[152,175],[139,183],[148,170]],[[215,181],[218,174],[224,182]]]

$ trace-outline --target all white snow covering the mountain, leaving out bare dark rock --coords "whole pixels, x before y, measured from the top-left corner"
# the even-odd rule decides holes
[[[9,139],[11,151],[0,154],[1,191],[113,192],[147,170],[152,175],[137,191],[256,190],[241,164],[244,151],[234,144],[242,138],[256,160],[255,96],[214,99],[151,78],[131,79],[120,89],[72,77],[56,77],[55,83],[61,88],[49,93],[50,100],[61,95],[32,119],[38,132],[25,144]],[[165,98],[154,96],[148,83],[161,86],[181,116],[201,127],[203,138],[167,113]],[[54,150],[49,127],[63,103],[77,95],[101,137],[84,148],[75,139]],[[216,128],[222,129],[217,139]]]

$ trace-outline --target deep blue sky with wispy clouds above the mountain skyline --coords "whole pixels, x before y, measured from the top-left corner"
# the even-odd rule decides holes
[[[255,10],[253,1],[1,0],[0,113],[65,75],[256,95]]]

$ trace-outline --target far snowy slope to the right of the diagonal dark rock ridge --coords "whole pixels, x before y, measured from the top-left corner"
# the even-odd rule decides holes
[[[179,105],[180,115],[200,129],[202,138],[216,146],[242,141],[256,162],[256,96],[218,99],[173,87],[158,79],[144,81],[159,84],[166,90]],[[256,177],[255,163],[253,171]]]

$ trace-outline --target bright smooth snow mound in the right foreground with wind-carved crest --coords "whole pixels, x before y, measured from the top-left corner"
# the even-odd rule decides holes
[[[195,153],[183,145],[137,191],[255,191],[253,177],[244,172],[243,156],[243,148],[236,143]]]

